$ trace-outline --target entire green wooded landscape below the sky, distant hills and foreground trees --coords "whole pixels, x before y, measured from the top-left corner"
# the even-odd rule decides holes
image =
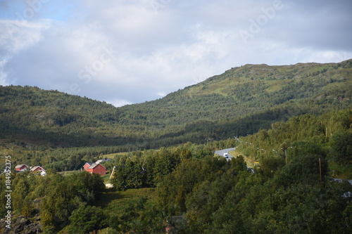
[[[351,70],[244,65],[122,108],[0,86],[0,232],[352,233]]]

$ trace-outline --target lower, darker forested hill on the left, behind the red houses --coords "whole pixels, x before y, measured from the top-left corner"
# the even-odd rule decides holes
[[[100,131],[118,117],[118,109],[112,105],[30,86],[1,86],[0,102],[1,138],[62,145],[107,144],[109,138]]]

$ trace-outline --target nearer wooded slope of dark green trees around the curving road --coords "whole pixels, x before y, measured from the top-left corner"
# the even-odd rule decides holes
[[[44,233],[351,233],[352,185],[333,181],[352,178],[351,126],[348,108],[251,136],[115,155],[106,164],[115,167],[114,188],[106,190],[86,171],[15,174],[13,220],[40,221]],[[213,153],[234,146],[230,161]],[[1,203],[4,185],[1,176]]]

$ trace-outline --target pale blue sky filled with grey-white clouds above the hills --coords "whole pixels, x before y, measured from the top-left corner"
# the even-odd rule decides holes
[[[249,63],[339,63],[351,12],[351,0],[0,0],[0,85],[119,107]]]

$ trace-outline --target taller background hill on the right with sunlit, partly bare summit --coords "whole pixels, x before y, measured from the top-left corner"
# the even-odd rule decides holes
[[[152,102],[121,108],[182,143],[246,135],[279,120],[351,107],[352,60],[338,64],[244,65]]]

